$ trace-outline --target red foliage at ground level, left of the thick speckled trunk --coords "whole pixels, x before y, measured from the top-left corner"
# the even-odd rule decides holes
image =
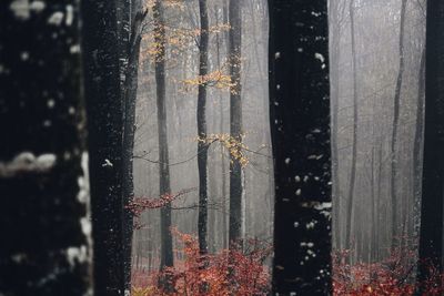
[[[218,254],[201,255],[194,236],[174,231],[182,244],[184,259],[174,267],[144,277],[133,274],[137,295],[268,295],[270,276],[263,265],[271,248],[256,241],[249,242],[249,251],[222,251]],[[170,278],[174,292],[159,287],[160,278]],[[140,293],[140,294],[139,294]]]

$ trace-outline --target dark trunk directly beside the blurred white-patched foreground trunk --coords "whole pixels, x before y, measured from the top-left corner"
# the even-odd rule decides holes
[[[95,295],[122,295],[122,104],[115,2],[82,2]]]

